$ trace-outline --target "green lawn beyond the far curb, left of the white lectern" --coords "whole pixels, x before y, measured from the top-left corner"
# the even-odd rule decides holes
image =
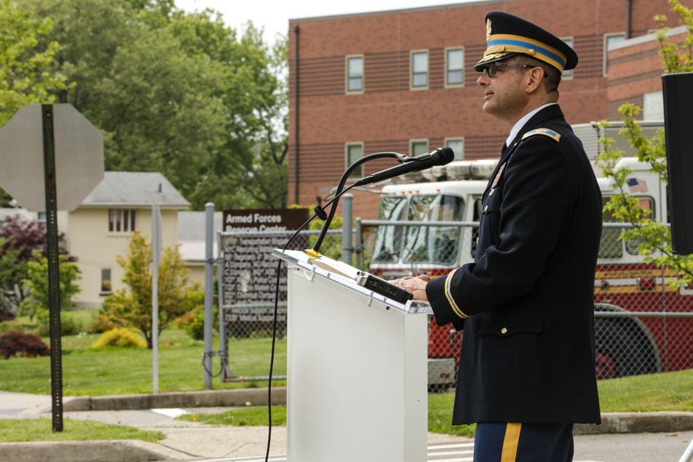
[[[152,350],[91,348],[98,337],[99,335],[62,337],[64,396],[151,393]],[[161,332],[159,340],[159,391],[204,390],[202,341],[191,339],[184,330],[175,327]],[[50,343],[49,339],[44,341]],[[238,376],[267,376],[271,344],[270,338],[232,337],[229,339],[231,369]],[[218,339],[215,339],[213,348],[219,348]],[[277,339],[274,364],[274,375],[286,375],[286,338]],[[219,367],[219,357],[213,357],[213,374],[218,373]],[[266,385],[266,382],[222,384],[216,377],[213,380],[215,389]],[[0,359],[0,390],[51,394],[50,357]]]

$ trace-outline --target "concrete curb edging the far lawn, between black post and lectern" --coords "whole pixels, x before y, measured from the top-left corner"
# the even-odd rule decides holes
[[[71,396],[62,409],[71,411],[129,411],[172,407],[267,406],[267,389],[245,388],[121,396]],[[250,403],[250,404],[248,404]],[[272,405],[286,405],[286,387],[272,388]],[[44,410],[50,412],[51,409]]]

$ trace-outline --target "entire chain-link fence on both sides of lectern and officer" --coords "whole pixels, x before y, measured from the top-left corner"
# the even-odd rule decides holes
[[[477,223],[466,222],[383,222],[357,220],[353,234],[351,264],[385,279],[429,274],[442,276],[451,269],[473,261],[477,238]],[[599,378],[624,377],[645,373],[677,371],[693,368],[693,289],[676,288],[670,282],[674,274],[644,263],[632,242],[618,239],[623,224],[605,223],[599,260],[595,273],[595,347]],[[238,265],[245,265],[245,290],[258,292],[271,287],[272,300],[263,303],[238,299],[229,303],[227,294],[242,292],[243,282],[225,281],[222,319],[228,339],[228,362],[235,377],[256,375],[258,369],[247,364],[248,348],[264,348],[271,337],[274,310],[274,283],[277,259],[272,248],[283,247],[291,233],[277,234],[272,242],[259,242],[254,235],[227,235],[222,243],[224,272],[236,274]],[[317,238],[317,231],[299,234],[289,249],[308,249]],[[233,245],[229,245],[233,240]],[[222,241],[223,242],[223,241]],[[254,248],[267,257],[249,257],[247,250]],[[320,252],[335,260],[342,257],[342,231],[331,230]],[[245,256],[242,256],[245,255]],[[269,263],[267,264],[267,262]],[[264,262],[265,269],[258,269]],[[252,266],[255,265],[255,266]],[[274,272],[274,274],[272,274]],[[226,273],[225,273],[226,274]],[[234,276],[235,277],[235,276]],[[243,276],[239,276],[243,277]],[[253,285],[252,279],[260,283]],[[277,362],[277,375],[286,374],[286,267],[280,276],[283,292],[279,298],[278,350],[283,352]],[[565,281],[570,284],[570,281]],[[250,284],[250,285],[249,285]],[[249,285],[249,286],[248,286]],[[250,287],[250,289],[248,289]],[[560,307],[560,301],[556,301]],[[429,317],[429,367],[453,360],[457,363],[464,332],[451,326],[437,326]],[[283,350],[282,350],[283,348]],[[266,349],[269,352],[269,348]],[[254,356],[256,357],[256,356]],[[255,361],[257,362],[257,361]],[[261,357],[261,371],[269,364]],[[247,364],[247,366],[244,366]],[[265,372],[266,373],[266,372]],[[435,375],[435,374],[434,374]],[[429,371],[431,376],[431,371]],[[455,377],[448,377],[441,388],[449,387]]]

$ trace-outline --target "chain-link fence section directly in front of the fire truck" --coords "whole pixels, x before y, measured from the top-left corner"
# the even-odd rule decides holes
[[[370,270],[383,278],[441,276],[473,260],[477,224],[363,221]],[[644,263],[637,243],[619,240],[624,224],[605,223],[595,272],[595,348],[599,378],[693,368],[693,290]],[[570,284],[570,281],[565,281]],[[560,301],[557,301],[560,306]],[[430,358],[459,357],[464,332],[429,322]]]

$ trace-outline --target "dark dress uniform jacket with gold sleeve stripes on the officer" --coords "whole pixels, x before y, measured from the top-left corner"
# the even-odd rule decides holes
[[[426,287],[436,322],[464,326],[453,424],[599,423],[602,195],[558,105],[520,130],[482,200],[475,262]]]

